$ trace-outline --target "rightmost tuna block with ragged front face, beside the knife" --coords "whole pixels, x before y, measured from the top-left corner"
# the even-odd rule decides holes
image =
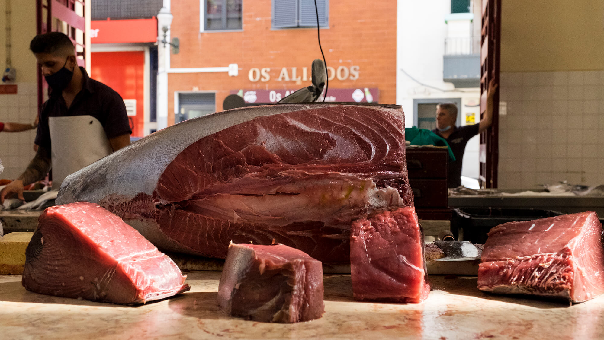
[[[583,302],[604,292],[602,224],[594,212],[508,222],[489,231],[478,289]]]

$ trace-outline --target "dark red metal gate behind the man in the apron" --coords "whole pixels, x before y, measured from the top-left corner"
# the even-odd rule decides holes
[[[83,16],[76,14],[76,3],[82,4]],[[76,30],[81,30],[83,40],[86,41],[86,6],[82,0],[36,0],[36,28],[37,34],[43,34],[54,31],[62,31],[62,22],[67,24],[67,36],[76,45],[76,55],[79,65],[85,65],[86,46],[76,41]],[[53,23],[55,24],[53,27]],[[81,52],[77,52],[77,46],[82,48]],[[38,109],[42,107],[43,91],[48,86],[42,77],[42,72],[37,72],[37,89],[38,89]]]

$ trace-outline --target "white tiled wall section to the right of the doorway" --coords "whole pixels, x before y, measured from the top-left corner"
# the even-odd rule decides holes
[[[499,187],[604,184],[604,71],[502,73]]]

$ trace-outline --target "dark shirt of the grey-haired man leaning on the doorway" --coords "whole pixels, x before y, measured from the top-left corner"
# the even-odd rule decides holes
[[[467,141],[478,134],[478,125],[479,124],[455,127],[455,130],[453,130],[451,136],[446,139],[447,143],[449,143],[449,148],[451,148],[451,151],[453,151],[453,156],[455,156],[455,160],[453,162],[449,162],[447,171],[447,182],[449,187],[458,187],[461,185],[461,164],[463,163],[463,153],[466,151]],[[432,132],[438,134],[440,137],[443,137],[437,128],[432,130]]]

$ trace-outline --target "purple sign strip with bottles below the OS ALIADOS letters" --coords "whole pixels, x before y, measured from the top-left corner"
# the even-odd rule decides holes
[[[297,89],[291,90],[231,90],[231,95],[239,95],[247,104],[266,104],[278,102]],[[321,96],[317,101],[323,101]],[[356,89],[327,89],[325,101],[341,102],[379,102],[377,87],[359,87]]]

